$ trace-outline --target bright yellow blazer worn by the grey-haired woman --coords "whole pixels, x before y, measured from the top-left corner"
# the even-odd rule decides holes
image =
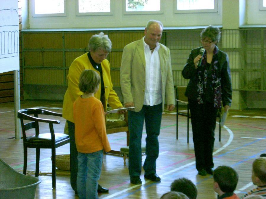
[[[75,60],[72,62],[71,66],[69,67],[67,75],[68,85],[63,102],[63,118],[73,123],[74,123],[73,103],[79,96],[83,94],[83,92],[81,92],[80,89],[78,88],[80,74],[85,69],[96,71],[93,68],[87,54],[88,53],[85,53],[75,58]],[[101,62],[101,66],[102,66],[102,76],[104,80],[104,90],[105,90],[105,100],[106,100],[104,109],[106,110],[107,102],[113,109],[122,107],[122,104],[116,92],[113,90],[109,61],[107,59],[104,59],[104,61]],[[99,71],[96,72],[100,75]],[[94,97],[100,100],[101,84],[99,86],[99,90],[94,94]]]

